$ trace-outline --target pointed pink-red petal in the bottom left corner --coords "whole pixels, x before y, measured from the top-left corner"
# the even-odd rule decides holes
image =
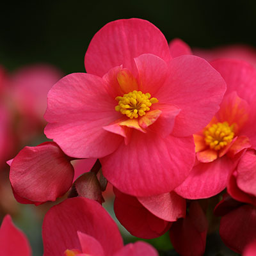
[[[27,237],[12,223],[10,215],[6,215],[0,227],[1,255],[30,256],[31,248]]]

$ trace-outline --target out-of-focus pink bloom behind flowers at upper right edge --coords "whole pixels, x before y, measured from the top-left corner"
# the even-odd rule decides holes
[[[193,49],[193,54],[202,57],[207,61],[218,58],[232,58],[244,60],[256,67],[256,49],[250,45],[226,45],[214,49]]]

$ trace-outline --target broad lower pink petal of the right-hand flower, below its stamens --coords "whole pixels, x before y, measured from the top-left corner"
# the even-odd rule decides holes
[[[228,175],[234,170],[232,159],[221,157],[212,163],[199,163],[188,178],[175,189],[184,198],[199,199],[217,195],[226,188]]]

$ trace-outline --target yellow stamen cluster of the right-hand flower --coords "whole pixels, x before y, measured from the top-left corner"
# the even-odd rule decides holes
[[[234,124],[228,122],[213,124],[204,131],[205,143],[214,150],[220,150],[230,143],[234,138]]]

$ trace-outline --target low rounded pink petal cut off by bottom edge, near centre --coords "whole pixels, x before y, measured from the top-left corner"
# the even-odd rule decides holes
[[[137,241],[134,244],[125,245],[120,251],[116,252],[114,256],[158,256],[157,250],[143,241]]]

